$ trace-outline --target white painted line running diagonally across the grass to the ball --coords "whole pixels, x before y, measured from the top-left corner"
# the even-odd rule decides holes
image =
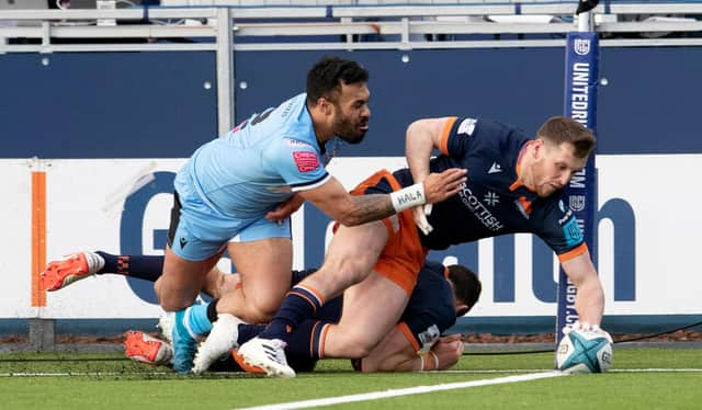
[[[532,373],[526,375],[507,376],[507,377],[489,378],[489,379],[483,379],[483,380],[449,383],[449,384],[434,385],[434,386],[417,386],[417,387],[409,387],[404,389],[390,389],[385,391],[363,392],[359,395],[328,397],[325,399],[292,401],[287,403],[267,405],[267,406],[259,406],[259,407],[247,407],[244,409],[245,410],[305,409],[309,407],[321,407],[321,406],[340,405],[340,403],[348,403],[348,402],[355,402],[355,401],[377,400],[377,399],[386,399],[388,397],[421,395],[424,392],[432,392],[432,391],[453,390],[453,389],[462,389],[462,388],[477,387],[477,386],[501,385],[505,383],[528,381],[528,380],[536,380],[540,378],[559,377],[559,376],[566,376],[566,374],[557,371],[551,371],[551,372],[544,372],[544,373]]]

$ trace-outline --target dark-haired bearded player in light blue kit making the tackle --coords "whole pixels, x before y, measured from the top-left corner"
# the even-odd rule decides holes
[[[176,175],[163,274],[155,291],[166,311],[178,311],[178,372],[190,372],[197,339],[210,331],[217,312],[236,315],[223,323],[234,326],[237,318],[268,321],[280,307],[290,288],[293,259],[290,215],[303,201],[344,226],[356,226],[415,205],[401,201],[409,193],[424,204],[458,192],[465,181],[462,169],[430,174],[405,193],[363,196],[350,195],[327,173],[326,144],[335,137],[359,144],[369,129],[367,78],[355,61],[322,58],[307,75],[306,93],[203,145]],[[236,261],[242,287],[220,300],[193,305],[225,249]],[[88,271],[48,272],[54,277],[48,289],[60,288],[99,263],[79,260],[80,255],[69,255],[66,264],[88,265]]]

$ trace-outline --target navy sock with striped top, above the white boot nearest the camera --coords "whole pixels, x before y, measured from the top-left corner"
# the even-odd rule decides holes
[[[297,329],[303,320],[312,317],[324,304],[324,297],[319,292],[315,292],[308,286],[294,286],[260,337],[262,339],[287,340],[288,333]]]

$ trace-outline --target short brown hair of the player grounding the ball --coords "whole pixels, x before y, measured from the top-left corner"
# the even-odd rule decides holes
[[[539,128],[536,138],[553,143],[556,146],[568,143],[575,148],[574,155],[577,158],[588,158],[597,139],[591,130],[573,118],[565,116],[553,116]]]

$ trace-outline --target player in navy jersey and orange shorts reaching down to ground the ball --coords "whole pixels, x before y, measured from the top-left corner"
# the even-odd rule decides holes
[[[399,192],[395,200],[416,207],[382,221],[339,226],[322,266],[291,289],[268,328],[239,353],[269,375],[294,377],[281,348],[290,342],[290,331],[343,292],[343,309],[354,315],[327,332],[325,353],[364,356],[397,322],[429,250],[514,232],[535,234],[554,250],[577,287],[580,323],[599,326],[602,286],[563,200],[564,189],[586,166],[595,144],[591,132],[566,117],[547,119],[534,138],[484,118],[412,123],[406,140],[409,168],[380,171],[353,193]],[[430,159],[434,149],[441,155]],[[424,206],[412,189],[430,172],[449,168],[466,169],[468,180],[458,194]]]

